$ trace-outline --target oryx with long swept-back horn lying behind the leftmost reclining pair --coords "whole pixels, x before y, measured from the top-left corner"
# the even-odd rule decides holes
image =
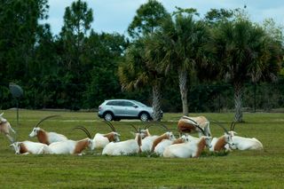
[[[30,138],[37,137],[40,143],[43,143],[46,145],[50,145],[51,143],[54,143],[54,142],[67,140],[68,138],[65,137],[64,135],[61,135],[57,132],[47,132],[38,127],[39,124],[43,122],[44,120],[47,120],[47,119],[50,119],[56,116],[59,116],[59,115],[47,116],[47,117],[44,117],[40,122],[37,122],[35,128],[31,131],[31,133],[29,133],[28,137]]]

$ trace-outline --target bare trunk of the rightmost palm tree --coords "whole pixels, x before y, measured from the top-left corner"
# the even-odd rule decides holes
[[[242,122],[242,83],[236,82],[234,85],[234,107],[235,107],[235,114],[234,114],[234,121],[235,122]]]

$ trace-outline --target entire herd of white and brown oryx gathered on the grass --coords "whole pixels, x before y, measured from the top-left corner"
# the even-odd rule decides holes
[[[102,149],[102,154],[106,155],[130,155],[146,152],[157,154],[170,158],[197,158],[201,152],[208,148],[211,152],[232,151],[232,150],[263,150],[262,143],[256,138],[243,138],[236,136],[234,130],[235,122],[231,124],[231,130],[226,130],[224,126],[217,123],[225,134],[219,138],[212,138],[209,129],[209,120],[204,116],[188,117],[182,116],[177,122],[179,138],[164,125],[157,122],[166,131],[162,135],[151,135],[147,124],[143,129],[137,129],[131,125],[135,132],[131,139],[120,141],[120,134],[116,132],[111,122],[106,122],[111,128],[111,132],[106,134],[97,133],[94,138],[91,137],[89,130],[83,126],[77,126],[75,129],[83,130],[88,138],[82,140],[71,140],[62,134],[48,132],[39,127],[39,125],[52,117],[51,115],[37,122],[35,128],[29,134],[29,137],[36,137],[38,142],[32,141],[14,141],[10,135],[11,124],[4,119],[3,113],[0,114],[0,131],[11,141],[11,146],[15,154],[83,154],[83,150],[90,148]],[[189,133],[197,132],[199,138],[195,138]]]

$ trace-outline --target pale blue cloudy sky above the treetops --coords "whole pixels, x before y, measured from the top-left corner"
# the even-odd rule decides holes
[[[65,8],[74,0],[49,0],[50,10],[47,23],[51,25],[53,35],[58,35],[63,26]],[[119,33],[127,35],[127,28],[141,4],[147,0],[85,0],[93,11],[94,21],[91,24],[96,32]],[[262,23],[273,19],[277,25],[284,26],[283,0],[159,0],[168,12],[177,7],[195,8],[203,16],[210,9],[236,9],[246,5],[249,18]]]

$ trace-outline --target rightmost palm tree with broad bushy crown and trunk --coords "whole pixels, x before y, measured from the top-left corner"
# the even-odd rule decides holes
[[[280,68],[280,43],[247,19],[224,21],[212,34],[212,50],[217,55],[220,75],[233,84],[234,119],[242,122],[243,85],[248,80],[276,78]]]

